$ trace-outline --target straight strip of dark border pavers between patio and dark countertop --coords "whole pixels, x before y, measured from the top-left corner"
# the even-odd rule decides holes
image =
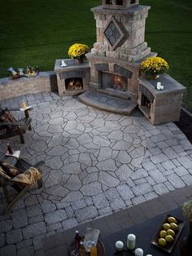
[[[66,232],[59,232],[43,239],[42,243],[45,254],[46,256],[53,254],[58,256],[63,255],[63,252],[67,249],[65,243],[72,241],[76,229],[83,234],[86,227],[98,228],[100,230],[100,237],[109,236],[122,229],[128,229],[147,219],[154,218],[159,214],[175,210],[182,206],[185,201],[191,199],[192,186],[180,188],[161,195],[158,198],[135,205],[132,208],[120,210],[104,218],[98,218],[92,222],[73,227]]]

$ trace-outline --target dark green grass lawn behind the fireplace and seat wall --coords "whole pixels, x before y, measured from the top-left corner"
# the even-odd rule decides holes
[[[0,0],[0,77],[7,68],[38,65],[53,70],[55,60],[68,57],[75,42],[96,41],[91,7],[102,0]],[[169,74],[187,87],[183,105],[192,112],[192,2],[141,0],[150,5],[146,42],[168,60]]]

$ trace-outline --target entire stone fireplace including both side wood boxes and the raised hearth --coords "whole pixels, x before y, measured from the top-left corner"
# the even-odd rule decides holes
[[[96,108],[129,115],[138,105],[154,125],[178,121],[185,87],[161,75],[164,90],[157,90],[156,82],[139,77],[142,60],[156,55],[145,42],[149,9],[139,0],[103,0],[102,6],[92,8],[97,42],[84,64],[65,60],[62,67],[62,60],[56,60],[59,95],[89,90],[79,98]]]

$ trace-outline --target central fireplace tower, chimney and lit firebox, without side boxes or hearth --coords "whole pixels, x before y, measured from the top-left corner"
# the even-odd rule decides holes
[[[138,3],[138,0],[103,0],[103,6],[91,9],[96,20],[97,42],[87,54],[89,87],[134,103],[137,103],[139,63],[147,55],[155,55],[144,41],[150,7]]]

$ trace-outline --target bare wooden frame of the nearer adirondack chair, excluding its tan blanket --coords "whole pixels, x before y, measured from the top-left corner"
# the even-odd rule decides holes
[[[24,159],[18,159],[15,163],[15,167],[20,170],[20,174],[25,174],[28,170],[30,170],[30,167],[34,167],[32,169],[33,170],[38,170],[39,171],[39,176],[37,180],[33,180],[33,185],[31,184],[26,184],[26,183],[20,183],[19,181],[15,181],[15,178],[17,178],[17,176],[15,176],[15,178],[11,178],[4,170],[2,170],[2,168],[0,167],[0,187],[2,187],[2,190],[6,196],[6,200],[7,200],[7,206],[6,208],[3,210],[3,214],[7,214],[10,210],[11,207],[13,205],[15,205],[15,202],[19,201],[20,198],[22,196],[24,196],[24,194],[26,192],[28,192],[28,190],[30,188],[33,188],[35,182],[37,182],[38,184],[38,188],[42,187],[42,177],[41,177],[41,170],[39,169],[42,165],[44,164],[44,161],[40,161],[38,162],[35,166],[31,166],[27,161],[24,161]],[[20,175],[18,174],[18,176]],[[16,194],[14,197],[11,198],[10,195],[10,189],[7,189],[8,186],[11,186],[12,188],[14,188],[16,190]]]

